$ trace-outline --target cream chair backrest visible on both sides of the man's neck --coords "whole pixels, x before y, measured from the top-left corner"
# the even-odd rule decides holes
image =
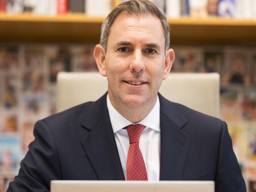
[[[60,72],[57,77],[57,111],[95,101],[107,90],[107,78],[98,72]],[[172,102],[219,117],[217,73],[171,73],[159,92]]]

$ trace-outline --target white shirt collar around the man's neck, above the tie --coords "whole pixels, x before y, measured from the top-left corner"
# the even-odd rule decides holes
[[[109,96],[107,95],[107,107],[111,125],[113,127],[114,133],[126,127],[130,124],[134,124],[122,116],[111,104]],[[146,127],[160,131],[160,102],[157,96],[156,104],[153,109],[143,118],[138,124],[142,124]]]

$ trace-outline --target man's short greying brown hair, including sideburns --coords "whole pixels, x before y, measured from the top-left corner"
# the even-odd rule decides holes
[[[105,52],[107,51],[108,36],[110,33],[110,28],[115,20],[115,18],[122,13],[127,12],[129,15],[144,16],[144,15],[155,15],[161,21],[164,37],[165,37],[165,51],[169,49],[170,44],[170,26],[169,23],[163,15],[163,13],[150,1],[148,0],[130,0],[119,4],[115,9],[113,9],[108,17],[104,20],[101,26],[100,34],[100,45],[103,46]]]

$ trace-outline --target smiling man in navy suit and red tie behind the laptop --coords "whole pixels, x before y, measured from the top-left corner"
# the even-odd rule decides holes
[[[158,94],[174,51],[153,4],[117,6],[94,56],[108,92],[37,122],[8,191],[48,191],[56,179],[213,180],[216,192],[246,191],[226,124]]]

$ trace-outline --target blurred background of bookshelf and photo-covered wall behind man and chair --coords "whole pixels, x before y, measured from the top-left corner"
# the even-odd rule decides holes
[[[256,1],[151,0],[167,15],[171,72],[218,72],[221,119],[256,191]],[[56,75],[97,71],[100,26],[123,0],[0,0],[0,191],[17,174],[35,122],[56,113]]]

